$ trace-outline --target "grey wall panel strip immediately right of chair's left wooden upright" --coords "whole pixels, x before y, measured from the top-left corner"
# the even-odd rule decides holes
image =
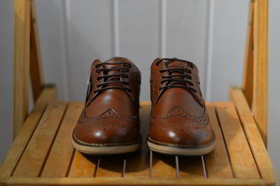
[[[35,2],[45,83],[57,84],[58,98],[65,100],[67,90],[62,74],[65,55],[62,42],[63,3],[56,0]]]

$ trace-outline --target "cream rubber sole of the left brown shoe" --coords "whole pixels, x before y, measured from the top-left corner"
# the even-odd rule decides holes
[[[92,146],[90,144],[80,144],[76,142],[72,137],[72,144],[76,150],[81,153],[90,155],[114,155],[123,153],[132,153],[139,150],[141,146],[141,140],[137,141],[135,144],[127,145],[116,145],[116,146]]]

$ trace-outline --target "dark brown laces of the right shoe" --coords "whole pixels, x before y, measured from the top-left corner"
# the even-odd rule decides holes
[[[195,90],[195,88],[193,88],[192,86],[194,86],[193,84],[193,79],[190,75],[191,74],[191,70],[187,67],[193,68],[193,63],[191,63],[190,61],[185,61],[185,60],[181,60],[181,59],[169,59],[169,58],[164,58],[164,59],[160,59],[159,61],[157,61],[157,63],[155,64],[156,66],[158,66],[162,61],[164,61],[165,66],[167,68],[160,70],[160,72],[167,72],[169,75],[164,75],[162,76],[162,81],[160,82],[160,84],[165,84],[165,86],[161,86],[159,90],[162,89],[168,89],[168,88],[186,88],[190,91],[193,91],[195,93],[197,93],[197,91]],[[187,63],[188,66],[186,65],[186,67],[181,67],[181,68],[172,68],[169,67],[168,65],[174,61],[181,61],[184,63]],[[179,75],[172,75],[173,73],[179,73]],[[187,72],[188,74],[186,74],[185,72]]]

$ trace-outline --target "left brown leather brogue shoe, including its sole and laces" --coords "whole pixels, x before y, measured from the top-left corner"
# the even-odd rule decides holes
[[[91,66],[85,107],[73,130],[82,153],[118,154],[138,150],[141,72],[132,61],[115,57]]]

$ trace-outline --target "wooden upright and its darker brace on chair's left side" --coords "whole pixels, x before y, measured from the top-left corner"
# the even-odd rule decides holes
[[[55,85],[45,85],[41,63],[41,49],[36,22],[34,1],[15,0],[15,65],[14,65],[14,138],[20,131],[28,116],[29,79],[33,92],[34,103],[43,91],[52,96],[46,98],[55,100]],[[41,98],[45,99],[45,98]],[[40,102],[43,100],[40,99]],[[44,100],[45,101],[45,100]]]

